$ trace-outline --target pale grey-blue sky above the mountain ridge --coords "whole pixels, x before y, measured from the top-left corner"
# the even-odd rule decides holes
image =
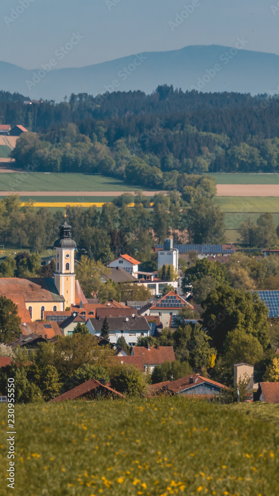
[[[279,1],[0,1],[0,61],[26,69],[47,63],[71,40],[59,68],[189,45],[232,47],[238,37],[249,39],[247,50],[279,55]]]

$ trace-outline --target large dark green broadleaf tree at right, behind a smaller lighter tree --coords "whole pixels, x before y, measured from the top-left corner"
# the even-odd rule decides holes
[[[203,319],[213,345],[223,350],[225,337],[229,331],[245,329],[255,336],[264,350],[269,338],[268,309],[257,293],[219,286],[203,302]]]

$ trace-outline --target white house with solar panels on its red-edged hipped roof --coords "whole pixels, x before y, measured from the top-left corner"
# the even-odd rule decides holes
[[[174,291],[170,291],[166,296],[163,296],[157,303],[152,305],[149,309],[149,315],[159,315],[163,327],[169,326],[169,319],[172,315],[178,315],[179,310],[182,308],[189,308],[193,310],[184,298],[178,296]]]

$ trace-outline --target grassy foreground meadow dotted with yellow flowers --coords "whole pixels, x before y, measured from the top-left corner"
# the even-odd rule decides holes
[[[275,496],[278,424],[279,405],[177,397],[16,405],[16,495]]]

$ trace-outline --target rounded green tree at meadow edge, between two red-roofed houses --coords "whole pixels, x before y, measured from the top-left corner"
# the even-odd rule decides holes
[[[116,364],[110,370],[112,388],[119,393],[139,395],[146,388],[144,373],[134,365]]]

